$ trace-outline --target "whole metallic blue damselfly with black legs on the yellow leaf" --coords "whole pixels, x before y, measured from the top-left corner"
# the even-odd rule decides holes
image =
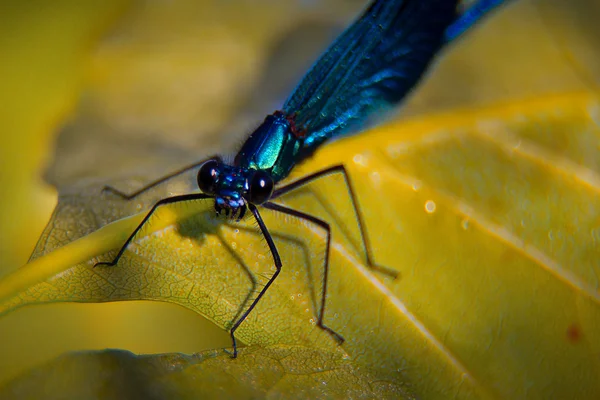
[[[323,143],[359,131],[372,120],[373,114],[398,104],[418,82],[439,50],[499,3],[500,0],[479,1],[460,14],[457,11],[459,0],[373,1],[318,59],[281,110],[268,115],[250,134],[233,163],[227,164],[220,157],[213,157],[186,166],[131,194],[105,188],[125,199],[132,199],[175,175],[201,166],[197,180],[202,193],[174,196],[157,202],[113,261],[97,263],[96,266],[116,265],[140,228],[162,205],[214,199],[218,215],[224,213],[228,218],[237,220],[244,218],[250,210],[266,239],[276,270],[230,329],[233,357],[236,357],[236,330],[275,282],[283,265],[259,206],[288,214],[314,223],[327,233],[317,325],[342,343],[343,337],[324,322],[330,225],[314,215],[272,200],[326,175],[341,174],[357,216],[367,265],[391,275],[394,273],[377,267],[374,262],[373,249],[344,165],[327,168],[283,186],[277,185],[296,164],[310,157]]]

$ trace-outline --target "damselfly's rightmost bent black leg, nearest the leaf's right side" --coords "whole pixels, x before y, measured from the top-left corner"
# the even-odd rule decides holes
[[[371,243],[369,242],[369,237],[365,230],[365,224],[362,219],[362,213],[360,212],[360,207],[358,206],[358,202],[356,200],[356,195],[354,194],[354,188],[352,187],[352,183],[350,181],[350,176],[348,175],[348,172],[346,171],[346,168],[344,167],[344,165],[335,165],[333,167],[329,167],[322,171],[318,171],[318,172],[315,172],[314,174],[305,176],[305,177],[303,177],[295,182],[292,182],[282,188],[279,188],[273,192],[273,195],[271,196],[271,200],[276,199],[277,197],[280,197],[286,193],[289,193],[299,187],[307,185],[314,180],[317,180],[317,179],[322,178],[327,175],[336,174],[336,173],[342,174],[344,176],[344,181],[346,182],[346,186],[348,187],[348,191],[350,192],[350,199],[352,200],[352,206],[354,208],[354,213],[356,214],[356,217],[357,217],[358,227],[360,229],[360,235],[362,238],[362,244],[365,249],[365,253],[367,255],[367,266],[375,271],[379,271],[386,275],[389,275],[394,279],[397,278],[398,272],[393,271],[389,268],[377,265],[373,261]]]

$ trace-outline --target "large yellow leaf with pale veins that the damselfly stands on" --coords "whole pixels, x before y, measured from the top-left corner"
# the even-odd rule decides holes
[[[333,223],[325,321],[346,342],[311,323],[324,233],[266,210],[284,269],[239,338],[338,352],[427,398],[597,393],[599,149],[590,143],[599,115],[596,96],[574,93],[396,123],[324,147],[291,179],[345,163],[376,261],[401,276],[365,266],[343,182],[323,179],[282,202]],[[93,258],[65,269],[64,251],[64,272],[3,299],[3,309],[142,298],[228,328],[273,267],[251,222],[224,224],[211,207],[166,206],[114,268],[92,269]],[[104,236],[113,238],[106,249],[116,244]]]

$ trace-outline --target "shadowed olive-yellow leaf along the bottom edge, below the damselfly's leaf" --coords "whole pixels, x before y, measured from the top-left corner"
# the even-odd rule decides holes
[[[3,399],[361,398],[413,399],[349,360],[301,347],[247,348],[138,357],[107,350],[62,356],[0,388]],[[132,376],[135,371],[135,377]],[[41,377],[41,379],[40,379]],[[235,377],[235,379],[231,379]],[[35,380],[36,385],[31,385]]]

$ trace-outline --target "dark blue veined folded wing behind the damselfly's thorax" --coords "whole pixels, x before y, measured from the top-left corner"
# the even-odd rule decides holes
[[[458,0],[375,0],[321,56],[285,102],[311,153],[355,132],[417,83],[456,19]]]

